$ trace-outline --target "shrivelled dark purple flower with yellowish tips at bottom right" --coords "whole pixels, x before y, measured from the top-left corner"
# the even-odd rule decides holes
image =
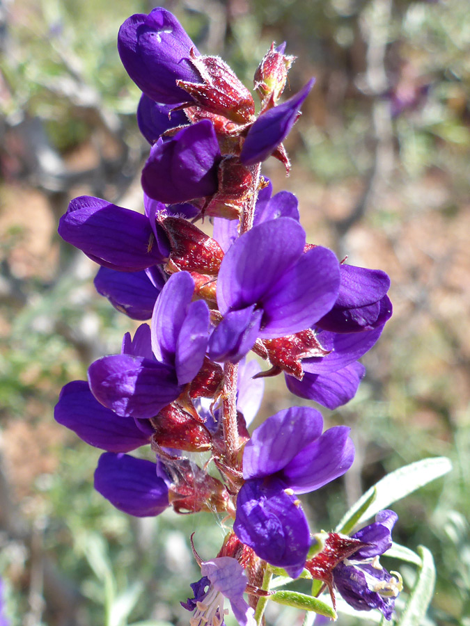
[[[397,520],[393,511],[377,513],[374,524],[352,535],[368,545],[333,570],[334,585],[347,604],[357,611],[379,609],[387,620],[391,619],[402,581],[399,575],[389,574],[380,565],[379,555],[391,547],[391,530]]]

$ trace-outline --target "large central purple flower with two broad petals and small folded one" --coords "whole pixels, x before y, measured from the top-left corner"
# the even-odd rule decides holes
[[[331,309],[338,261],[320,246],[304,252],[305,240],[297,221],[278,218],[253,227],[228,249],[217,279],[224,319],[210,339],[210,358],[237,362],[257,337],[292,335]]]

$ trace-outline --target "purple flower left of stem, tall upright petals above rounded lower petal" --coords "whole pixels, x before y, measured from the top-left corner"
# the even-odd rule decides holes
[[[201,369],[209,337],[209,309],[191,302],[188,272],[170,277],[139,336],[125,338],[124,351],[98,359],[88,369],[95,398],[122,417],[149,419],[178,398]],[[151,337],[151,340],[150,340]]]

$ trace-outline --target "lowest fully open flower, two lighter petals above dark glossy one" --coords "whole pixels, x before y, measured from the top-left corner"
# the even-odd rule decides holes
[[[318,411],[292,407],[253,432],[243,453],[245,483],[237,497],[233,529],[260,559],[300,575],[310,533],[296,493],[319,489],[342,476],[354,460],[350,428],[322,434]]]

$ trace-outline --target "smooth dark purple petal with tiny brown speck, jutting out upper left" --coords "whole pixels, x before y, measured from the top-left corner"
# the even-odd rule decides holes
[[[58,234],[93,261],[123,272],[162,262],[148,218],[107,200],[81,195],[68,205]]]

